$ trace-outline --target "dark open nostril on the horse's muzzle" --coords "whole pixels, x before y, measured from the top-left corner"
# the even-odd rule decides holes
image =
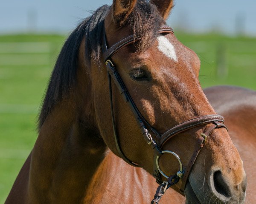
[[[213,174],[213,183],[215,190],[219,194],[224,195],[226,198],[230,197],[230,190],[228,184],[225,182],[225,179],[223,178],[220,170],[215,171],[215,173]]]

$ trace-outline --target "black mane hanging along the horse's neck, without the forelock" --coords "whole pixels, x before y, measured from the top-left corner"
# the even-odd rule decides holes
[[[99,53],[102,39],[103,22],[109,6],[98,8],[92,16],[84,19],[64,43],[52,71],[48,89],[38,119],[41,128],[53,106],[61,101],[76,83],[79,47],[85,36],[85,57],[90,62],[92,52]],[[93,39],[93,40],[92,40]]]

